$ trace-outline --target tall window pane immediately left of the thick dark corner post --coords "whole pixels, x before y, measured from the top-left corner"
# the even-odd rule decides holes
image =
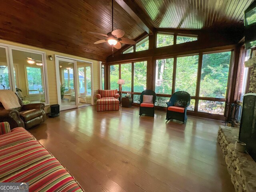
[[[134,92],[142,92],[146,90],[147,85],[147,62],[134,63]]]

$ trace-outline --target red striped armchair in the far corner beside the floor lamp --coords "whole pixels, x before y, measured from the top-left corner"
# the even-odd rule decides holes
[[[119,110],[119,94],[117,89],[115,90],[98,90],[96,98],[98,99],[97,111],[110,111]]]

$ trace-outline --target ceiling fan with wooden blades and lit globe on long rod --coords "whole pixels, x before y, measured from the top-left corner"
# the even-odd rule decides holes
[[[136,42],[134,40],[123,37],[124,36],[123,30],[121,30],[121,29],[114,30],[113,12],[114,12],[114,7],[113,7],[113,0],[112,0],[112,32],[108,32],[108,34],[106,34],[106,35],[101,34],[101,33],[96,33],[96,32],[89,32],[89,33],[92,33],[95,35],[100,35],[100,36],[106,37],[105,39],[94,42],[94,44],[108,42],[108,44],[112,45],[112,52],[113,52],[113,47],[116,49],[120,49],[121,43],[130,44],[130,45],[136,44]]]

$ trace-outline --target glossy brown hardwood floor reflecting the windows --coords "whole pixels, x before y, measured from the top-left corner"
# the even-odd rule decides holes
[[[66,110],[30,132],[86,192],[234,192],[216,139],[220,121],[166,123],[165,112],[138,110]]]

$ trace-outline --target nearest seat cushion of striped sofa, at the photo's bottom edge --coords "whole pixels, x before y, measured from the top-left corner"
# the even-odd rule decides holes
[[[29,191],[33,192],[82,192],[78,183],[56,160],[47,158],[8,176],[0,182],[28,182]]]

